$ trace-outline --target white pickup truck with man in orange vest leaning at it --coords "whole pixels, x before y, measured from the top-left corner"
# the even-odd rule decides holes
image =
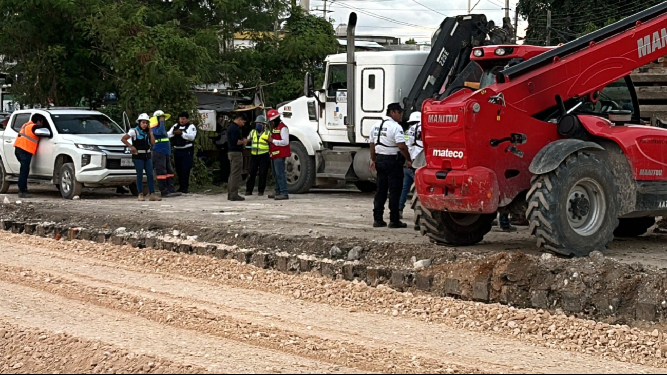
[[[82,109],[24,109],[12,113],[0,129],[0,194],[19,181],[14,141],[21,125],[34,113],[46,117],[51,135],[39,140],[29,183],[53,184],[66,199],[81,194],[83,187],[127,186],[137,195],[131,152],[121,142],[125,132],[106,115]]]

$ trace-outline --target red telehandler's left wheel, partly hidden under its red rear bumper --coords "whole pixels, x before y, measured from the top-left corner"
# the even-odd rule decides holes
[[[414,185],[412,185],[414,189]],[[431,242],[451,246],[470,246],[480,242],[491,231],[496,214],[458,214],[428,210],[413,190],[412,209],[422,236]]]

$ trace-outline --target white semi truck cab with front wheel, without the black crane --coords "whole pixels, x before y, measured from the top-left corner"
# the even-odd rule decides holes
[[[370,130],[382,120],[389,103],[406,97],[428,55],[424,51],[355,53],[354,77],[348,77],[346,54],[331,55],[320,89],[314,88],[312,75],[307,74],[304,96],[278,109],[291,141],[289,192],[298,194],[346,181],[353,181],[362,191],[374,190]],[[348,100],[350,81],[356,98],[352,103]],[[348,105],[354,106],[354,121],[348,119]]]

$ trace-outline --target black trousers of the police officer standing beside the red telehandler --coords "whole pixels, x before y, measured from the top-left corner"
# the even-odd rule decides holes
[[[379,155],[376,158],[378,172],[378,191],[374,201],[373,218],[382,221],[384,204],[389,195],[390,222],[400,222],[401,213],[398,209],[403,189],[403,166],[399,155]]]

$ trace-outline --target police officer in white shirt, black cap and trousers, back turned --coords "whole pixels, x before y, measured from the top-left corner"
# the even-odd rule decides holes
[[[408,224],[401,221],[399,208],[401,187],[403,185],[403,165],[412,167],[412,158],[408,153],[401,121],[403,108],[400,103],[387,106],[387,114],[382,117],[370,133],[371,169],[378,171],[378,191],[373,208],[373,226],[387,226],[382,219],[384,204],[389,193],[389,227],[407,228]]]

